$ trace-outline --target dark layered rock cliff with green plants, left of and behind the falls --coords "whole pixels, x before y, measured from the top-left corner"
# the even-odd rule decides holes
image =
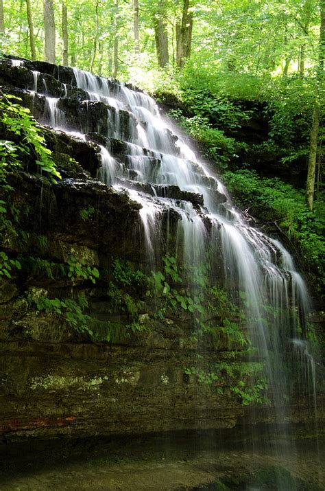
[[[51,97],[60,98],[56,117],[64,112],[68,128],[88,128],[81,139],[43,126],[62,181],[51,183],[36,174],[30,154],[23,168],[8,174],[12,189],[1,190],[9,204],[5,219],[13,224],[3,229],[1,248],[22,266],[13,267],[11,277],[3,276],[0,290],[0,431],[5,441],[228,429],[251,413],[255,422],[273,422],[272,407],[256,400],[246,407],[232,390],[243,376],[238,364],[254,363],[245,357],[240,337],[221,330],[217,339],[208,335],[199,342],[191,311],[167,308],[157,315],[156,299],[147,293],[150,264],[141,205],[97,180],[101,145],[110,148],[125,179],[132,176],[125,142],[136,131],[133,116],[109,107],[112,118],[119,117],[123,140],[104,137],[110,124],[107,104],[88,101],[65,67],[29,61],[12,66],[11,60],[1,60],[0,84],[3,93],[21,98],[40,123],[51,119]],[[114,91],[116,83],[110,84]],[[10,136],[19,143],[19,136]],[[147,150],[146,157],[154,173],[157,155]],[[130,186],[143,190],[146,185]],[[202,205],[200,194],[177,185],[145,191]],[[215,192],[215,200],[224,199]],[[162,236],[178,220],[169,212],[168,220],[161,221]],[[219,319],[221,310],[215,313]],[[230,317],[245,332],[237,313]],[[234,352],[243,353],[236,368]],[[202,380],[203,368],[215,364],[223,376]],[[306,407],[306,401],[307,396],[296,398],[290,418],[313,428],[313,407]]]

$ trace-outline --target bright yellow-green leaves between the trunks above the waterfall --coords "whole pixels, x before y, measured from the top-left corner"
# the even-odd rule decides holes
[[[154,20],[157,4],[143,0],[139,8],[140,53],[134,56],[134,11],[132,2],[99,2],[96,24],[96,3],[82,0],[70,2],[68,7],[69,64],[82,69],[91,67],[96,73],[112,76],[112,48],[115,36],[119,38],[119,77],[134,82],[150,82],[158,78]],[[169,38],[169,69],[176,65],[176,25],[182,16],[182,2],[164,1],[167,34]],[[62,31],[60,3],[56,10],[56,61],[62,62]],[[30,58],[31,49],[27,32],[26,9],[16,8],[14,0],[5,2],[4,52]],[[301,72],[298,58],[304,58],[305,71],[310,71],[317,49],[316,0],[252,1],[224,0],[222,3],[206,0],[191,1],[193,36],[191,69],[196,73],[207,67],[215,73],[231,71],[248,77],[265,73]],[[32,3],[34,30],[43,28],[43,12]],[[95,42],[96,41],[96,42]],[[43,55],[43,36],[35,36],[36,56]],[[304,50],[301,47],[304,47]],[[91,61],[95,56],[93,62]],[[106,60],[106,63],[104,63]],[[150,76],[147,76],[147,73]],[[160,72],[161,73],[161,72]],[[163,73],[162,73],[163,74]],[[170,78],[170,73],[169,73]],[[197,77],[197,80],[200,80]],[[167,77],[165,83],[168,83]],[[243,87],[245,90],[245,82]]]

